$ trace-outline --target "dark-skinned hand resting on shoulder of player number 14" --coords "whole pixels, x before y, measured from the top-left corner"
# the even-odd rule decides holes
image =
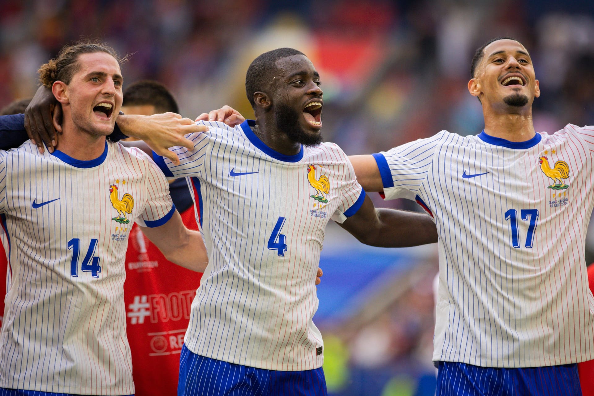
[[[61,119],[62,106],[53,96],[52,90],[42,85],[25,110],[25,129],[39,153],[43,154],[44,142],[48,151],[53,153],[53,148],[58,144],[56,131],[62,132]]]

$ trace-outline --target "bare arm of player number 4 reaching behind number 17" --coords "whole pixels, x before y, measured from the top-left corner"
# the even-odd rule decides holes
[[[404,248],[437,242],[437,228],[423,213],[375,208],[365,197],[361,208],[340,224],[362,243],[382,248]]]

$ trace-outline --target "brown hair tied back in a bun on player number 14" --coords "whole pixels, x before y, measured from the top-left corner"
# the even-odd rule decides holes
[[[63,81],[67,85],[70,84],[72,76],[80,68],[80,65],[78,64],[78,56],[83,55],[83,53],[96,52],[108,53],[118,61],[118,64],[125,61],[125,59],[119,58],[112,47],[100,40],[81,40],[72,45],[64,46],[56,58],[43,64],[39,70],[37,70],[40,83],[48,88],[51,88],[56,81]]]

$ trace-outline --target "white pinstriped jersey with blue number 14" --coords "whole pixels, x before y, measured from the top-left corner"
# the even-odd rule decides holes
[[[126,338],[124,259],[132,223],[172,216],[149,156],[119,143],[91,161],[0,151],[0,214],[11,284],[0,335],[0,387],[134,393]]]

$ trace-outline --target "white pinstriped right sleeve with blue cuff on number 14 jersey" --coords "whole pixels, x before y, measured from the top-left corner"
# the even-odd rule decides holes
[[[159,227],[173,216],[175,205],[169,195],[169,183],[163,172],[153,161],[147,159],[146,162],[147,203],[143,213],[136,218],[136,223],[141,227]]]

